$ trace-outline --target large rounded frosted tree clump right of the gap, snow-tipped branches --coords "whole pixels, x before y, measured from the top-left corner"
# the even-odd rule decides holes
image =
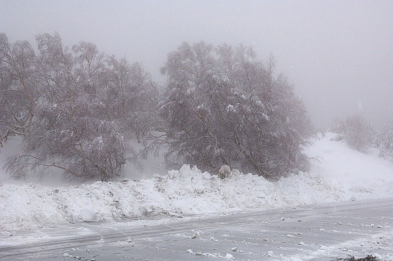
[[[169,53],[160,109],[168,122],[168,162],[263,176],[307,170],[309,118],[274,66],[272,57],[258,61],[244,46],[183,42]]]

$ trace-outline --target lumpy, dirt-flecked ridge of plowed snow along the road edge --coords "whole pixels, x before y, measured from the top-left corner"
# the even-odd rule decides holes
[[[359,193],[362,194],[333,186],[320,175],[300,173],[271,182],[232,171],[229,178],[221,180],[188,165],[166,176],[123,182],[99,181],[59,188],[3,184],[0,231],[61,223],[261,210],[349,200]]]

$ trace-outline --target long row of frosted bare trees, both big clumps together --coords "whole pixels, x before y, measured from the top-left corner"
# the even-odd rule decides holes
[[[168,54],[164,86],[139,63],[64,46],[57,33],[9,43],[0,34],[0,146],[23,136],[8,158],[14,177],[49,168],[68,178],[109,180],[166,145],[168,165],[223,165],[263,176],[307,171],[303,149],[315,136],[307,111],[271,56],[251,47],[183,42]],[[153,132],[154,131],[154,132]]]

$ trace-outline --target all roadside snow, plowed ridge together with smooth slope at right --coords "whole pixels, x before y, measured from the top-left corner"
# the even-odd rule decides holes
[[[221,180],[184,165],[150,179],[94,182],[68,187],[12,184],[0,173],[0,233],[62,223],[117,221],[228,211],[262,210],[304,203],[393,197],[393,163],[332,142],[315,143],[310,173],[274,182],[233,170]],[[0,179],[0,180],[1,180]]]

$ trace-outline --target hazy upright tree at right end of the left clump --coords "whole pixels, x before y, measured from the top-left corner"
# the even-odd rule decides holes
[[[157,122],[158,87],[140,63],[129,64],[125,58],[108,58],[109,69],[101,80],[100,101],[108,119],[122,122],[123,132],[135,134],[138,142]]]

